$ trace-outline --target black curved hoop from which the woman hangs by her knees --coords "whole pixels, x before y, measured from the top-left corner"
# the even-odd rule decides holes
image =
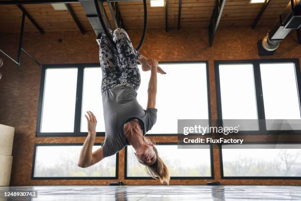
[[[94,0],[94,4],[95,4],[96,12],[97,12],[97,15],[98,15],[98,18],[99,18],[99,21],[101,23],[101,26],[103,28],[104,33],[109,38],[111,44],[113,44],[113,46],[117,49],[116,43],[114,42],[112,35],[109,33],[109,31],[107,29],[107,26],[105,25],[105,23],[103,21],[103,18],[102,18],[100,9],[99,9],[98,0]],[[146,3],[146,0],[143,0],[143,8],[144,8],[143,33],[142,33],[142,36],[141,36],[140,43],[139,43],[138,47],[136,48],[137,51],[140,50],[140,48],[141,48],[141,46],[142,46],[142,44],[144,42],[145,36],[146,36],[147,23],[148,23],[148,12],[147,12],[147,3]],[[100,39],[100,38],[98,38],[98,39]]]

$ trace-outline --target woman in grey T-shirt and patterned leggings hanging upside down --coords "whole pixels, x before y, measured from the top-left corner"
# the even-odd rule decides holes
[[[105,122],[105,140],[101,148],[92,153],[96,136],[96,117],[91,111],[85,115],[88,121],[88,136],[81,150],[79,167],[89,167],[112,156],[127,145],[132,145],[138,161],[146,166],[146,171],[161,183],[169,184],[169,172],[157,149],[145,134],[156,122],[155,108],[157,93],[157,72],[166,74],[158,67],[155,59],[148,59],[133,48],[128,34],[121,28],[109,30],[117,50],[102,33],[99,60],[102,70],[101,94]],[[137,61],[143,71],[151,71],[148,88],[147,109],[138,103],[137,90],[141,78]]]

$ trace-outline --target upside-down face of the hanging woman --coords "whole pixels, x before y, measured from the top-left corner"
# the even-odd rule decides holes
[[[141,147],[137,152],[135,153],[138,161],[142,163],[143,165],[152,165],[157,160],[156,153],[153,150],[153,144],[149,143],[148,145],[145,145]]]

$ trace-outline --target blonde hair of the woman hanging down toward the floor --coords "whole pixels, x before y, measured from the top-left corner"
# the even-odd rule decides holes
[[[150,138],[144,137],[146,141],[155,145]],[[157,160],[152,165],[145,165],[146,172],[154,179],[159,180],[161,184],[167,183],[169,185],[169,171],[162,159],[158,155],[158,151],[155,146],[153,146],[153,151],[156,154]]]

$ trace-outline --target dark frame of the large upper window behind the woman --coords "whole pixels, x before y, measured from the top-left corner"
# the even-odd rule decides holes
[[[163,61],[160,64],[198,64],[203,63],[206,65],[206,77],[207,77],[207,96],[208,96],[208,119],[211,120],[211,103],[210,103],[210,81],[209,81],[209,65],[208,61]],[[40,92],[38,102],[38,114],[36,124],[36,137],[67,137],[67,136],[87,136],[88,132],[81,132],[81,114],[82,114],[82,99],[83,99],[83,83],[84,83],[84,69],[85,67],[100,67],[99,63],[86,63],[86,64],[47,64],[42,65]],[[76,85],[76,102],[75,102],[75,116],[74,116],[74,132],[58,132],[58,133],[42,133],[41,120],[43,112],[43,101],[45,91],[45,78],[47,68],[77,68],[77,85]],[[100,93],[100,92],[99,92]],[[178,134],[146,134],[146,136],[177,136]],[[96,136],[105,136],[105,132],[96,132]]]

